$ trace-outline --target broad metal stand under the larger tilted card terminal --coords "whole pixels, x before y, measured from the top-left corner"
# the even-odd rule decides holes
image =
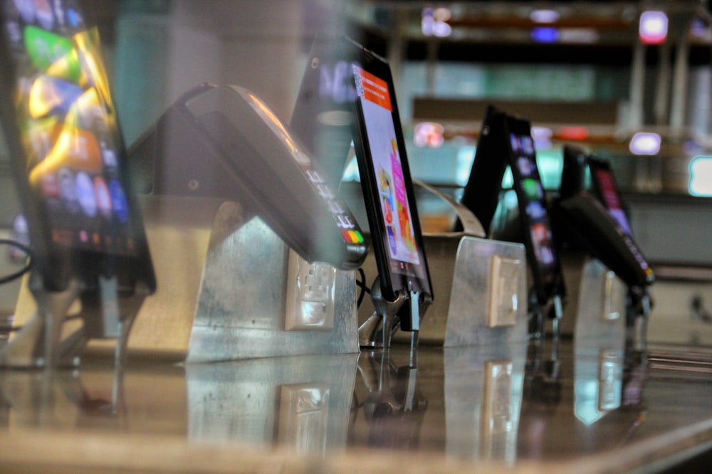
[[[176,362],[358,352],[352,271],[333,269],[324,308],[332,327],[286,330],[288,306],[298,304],[288,301],[299,283],[288,279],[295,259],[262,220],[215,198],[149,195],[142,205],[158,289],[141,308],[129,352]]]

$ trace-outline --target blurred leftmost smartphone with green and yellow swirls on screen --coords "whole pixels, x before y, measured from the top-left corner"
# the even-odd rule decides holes
[[[51,291],[117,276],[155,289],[98,32],[77,2],[0,7],[0,119],[36,265]]]

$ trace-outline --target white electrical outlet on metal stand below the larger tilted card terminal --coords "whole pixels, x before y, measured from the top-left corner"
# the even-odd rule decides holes
[[[289,251],[285,330],[330,330],[334,327],[336,269],[310,264]]]

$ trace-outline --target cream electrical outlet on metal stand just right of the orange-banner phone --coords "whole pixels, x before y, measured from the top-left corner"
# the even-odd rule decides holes
[[[489,312],[490,328],[513,326],[517,323],[519,279],[523,278],[524,265],[520,259],[493,255],[490,261]]]

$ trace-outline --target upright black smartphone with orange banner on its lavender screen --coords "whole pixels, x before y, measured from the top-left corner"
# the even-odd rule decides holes
[[[419,293],[432,298],[412,178],[393,78],[384,58],[357,43],[352,63],[354,146],[384,297]],[[404,321],[401,328],[409,330]]]

